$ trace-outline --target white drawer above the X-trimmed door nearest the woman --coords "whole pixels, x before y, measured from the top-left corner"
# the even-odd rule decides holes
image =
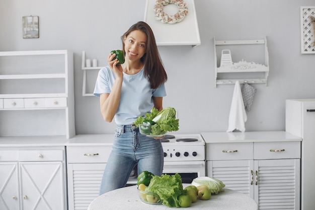
[[[19,161],[63,161],[62,150],[20,150]]]

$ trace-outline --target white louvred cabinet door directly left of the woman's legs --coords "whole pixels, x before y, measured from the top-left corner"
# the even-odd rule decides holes
[[[105,166],[105,163],[67,164],[69,210],[87,210],[99,196]]]

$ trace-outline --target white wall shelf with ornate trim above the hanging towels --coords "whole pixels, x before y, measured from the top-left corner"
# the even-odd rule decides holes
[[[215,78],[215,87],[216,85],[222,84],[235,84],[236,81],[239,81],[241,84],[266,84],[267,78],[269,75],[269,55],[267,48],[267,38],[258,39],[258,40],[215,40],[214,42],[214,78]],[[239,62],[231,62],[230,64],[217,65],[217,46],[219,45],[264,45],[264,64],[259,64],[255,62],[247,62],[243,59]],[[242,47],[242,46],[241,46]],[[223,73],[264,73],[264,78],[232,78],[232,79],[218,79],[218,74]]]

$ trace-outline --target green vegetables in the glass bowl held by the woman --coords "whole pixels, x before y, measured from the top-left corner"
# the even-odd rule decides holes
[[[160,112],[153,107],[150,113],[146,113],[144,117],[139,116],[133,124],[140,126],[141,133],[153,136],[179,130],[179,119],[176,119],[176,110],[173,107]]]

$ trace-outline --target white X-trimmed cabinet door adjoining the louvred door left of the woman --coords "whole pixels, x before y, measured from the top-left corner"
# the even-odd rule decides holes
[[[23,210],[65,209],[62,162],[19,163]]]

